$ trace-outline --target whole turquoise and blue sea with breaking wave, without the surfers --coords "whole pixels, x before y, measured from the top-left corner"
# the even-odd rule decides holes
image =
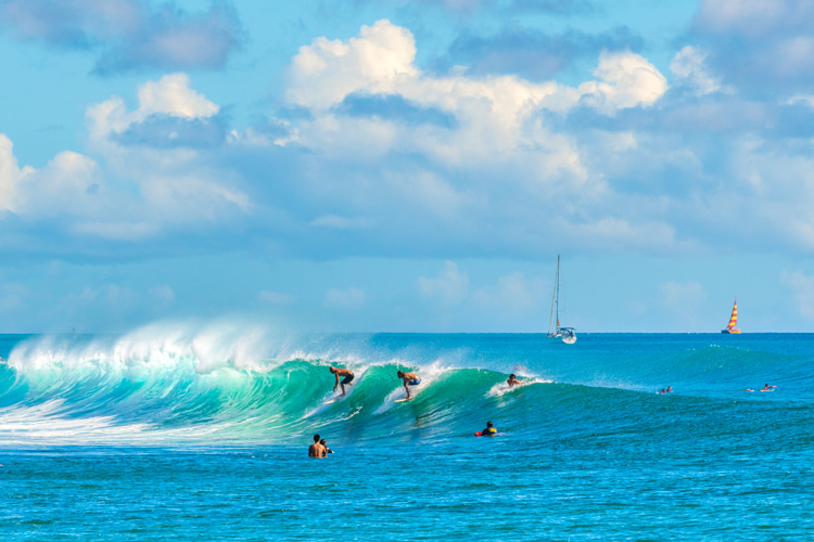
[[[155,327],[0,356],[3,540],[814,538],[814,335]],[[323,404],[330,364],[357,376]]]

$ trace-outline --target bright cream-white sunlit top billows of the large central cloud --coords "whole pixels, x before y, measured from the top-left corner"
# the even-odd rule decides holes
[[[325,111],[353,93],[398,94],[422,106],[461,112],[484,101],[493,114],[518,116],[535,107],[567,111],[589,99],[605,112],[651,105],[666,91],[664,76],[631,52],[603,52],[595,75],[578,88],[533,83],[517,77],[433,76],[415,65],[416,42],[407,29],[382,20],[347,41],[315,39],[300,48],[290,68],[290,103]]]

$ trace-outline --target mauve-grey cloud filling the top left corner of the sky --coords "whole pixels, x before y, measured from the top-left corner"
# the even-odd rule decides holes
[[[243,42],[237,13],[225,1],[187,13],[145,0],[4,0],[0,25],[21,39],[100,52],[96,72],[139,68],[222,68]]]

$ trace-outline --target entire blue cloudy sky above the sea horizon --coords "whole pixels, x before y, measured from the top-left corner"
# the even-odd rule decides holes
[[[0,0],[0,332],[814,324],[807,0]]]

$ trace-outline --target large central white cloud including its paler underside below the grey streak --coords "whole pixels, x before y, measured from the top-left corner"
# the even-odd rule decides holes
[[[572,142],[543,126],[538,113],[590,106],[613,115],[650,106],[667,89],[664,76],[631,52],[603,52],[595,72],[598,80],[576,88],[513,76],[436,76],[419,69],[415,59],[412,34],[386,20],[363,26],[358,37],[346,41],[317,38],[302,47],[289,69],[285,99],[311,109],[314,119],[301,121],[292,141],[335,156],[370,159],[393,150],[412,151],[471,168],[517,163],[535,150],[539,171],[581,176]],[[351,95],[399,96],[449,115],[457,125],[414,126],[332,109]]]

